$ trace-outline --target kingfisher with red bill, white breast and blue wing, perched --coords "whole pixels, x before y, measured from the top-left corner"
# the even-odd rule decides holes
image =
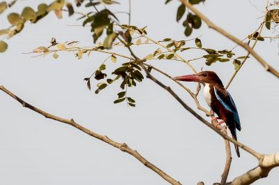
[[[186,82],[200,82],[204,86],[204,99],[209,107],[218,117],[214,119],[223,119],[219,124],[225,122],[232,138],[237,140],[236,129],[241,131],[241,123],[239,113],[232,96],[225,89],[222,81],[213,71],[202,71],[193,75],[182,75],[173,77],[174,80]],[[239,147],[234,145],[236,154],[240,157]]]

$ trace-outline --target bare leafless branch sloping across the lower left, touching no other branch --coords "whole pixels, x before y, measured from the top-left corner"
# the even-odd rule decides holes
[[[11,91],[9,91],[8,89],[6,89],[3,86],[0,86],[0,90],[4,91],[6,94],[8,94],[12,98],[14,98],[16,101],[20,102],[24,108],[29,108],[35,112],[38,112],[38,114],[41,114],[46,118],[54,119],[56,121],[60,121],[65,124],[69,124],[70,126],[73,126],[77,129],[79,129],[80,131],[82,131],[88,135],[91,135],[93,138],[97,138],[98,140],[106,142],[107,144],[111,145],[112,147],[116,147],[116,148],[120,149],[121,151],[124,151],[124,152],[130,154],[131,156],[134,156],[135,158],[137,158],[138,161],[140,161],[147,168],[150,168],[151,170],[156,172],[158,175],[163,177],[163,179],[165,179],[170,184],[181,185],[180,182],[177,182],[175,179],[173,179],[172,177],[167,175],[167,173],[163,172],[163,170],[160,170],[158,167],[156,167],[156,165],[153,165],[152,163],[147,161],[146,158],[144,158],[140,153],[137,152],[137,150],[134,150],[134,149],[131,149],[130,147],[128,147],[128,145],[125,142],[123,142],[123,143],[115,142],[114,140],[111,140],[110,138],[108,138],[106,135],[100,135],[98,133],[90,131],[89,129],[85,128],[84,126],[81,126],[80,124],[77,124],[77,122],[75,122],[73,119],[65,119],[62,117],[57,117],[53,114],[40,110],[39,108],[36,108],[33,105],[30,105],[29,103],[23,101],[21,98],[17,97],[15,94],[13,94]]]

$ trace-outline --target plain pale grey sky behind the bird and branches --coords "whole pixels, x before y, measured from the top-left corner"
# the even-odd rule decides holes
[[[47,1],[51,2],[51,1]],[[128,10],[128,1],[113,10]],[[40,1],[19,1],[13,11],[21,13],[24,6],[35,8]],[[132,24],[147,27],[151,38],[162,40],[188,39],[183,27],[175,21],[178,1],[165,6],[165,1],[132,1]],[[245,38],[255,31],[262,21],[266,1],[211,1],[197,6],[213,22],[238,38]],[[88,9],[86,9],[88,10]],[[6,15],[1,15],[1,29],[8,27]],[[123,23],[126,15],[118,14]],[[22,33],[8,40],[9,49],[0,55],[0,84],[24,101],[60,117],[73,118],[86,128],[109,136],[117,142],[126,142],[158,168],[164,170],[182,184],[206,184],[220,182],[225,165],[224,140],[204,126],[151,80],[128,90],[137,101],[136,108],[125,103],[114,105],[116,94],[121,91],[119,83],[112,84],[100,94],[86,87],[88,77],[100,66],[107,54],[92,52],[90,57],[77,60],[73,53],[61,52],[59,59],[51,55],[32,57],[34,48],[49,45],[54,36],[57,41],[79,40],[80,45],[93,45],[89,28],[69,27],[81,24],[63,13],[57,20],[50,13],[37,24],[25,25]],[[264,29],[263,36],[276,33]],[[190,38],[200,36],[204,47],[216,50],[231,49],[234,43],[203,23]],[[188,45],[193,45],[193,42]],[[156,50],[154,47],[133,47],[135,53],[144,57]],[[257,52],[271,66],[279,70],[278,42],[258,42]],[[128,54],[126,50],[118,52]],[[239,56],[245,55],[237,49]],[[201,53],[183,52],[183,57],[192,59]],[[118,57],[116,64],[107,61],[107,74],[112,67],[126,62]],[[169,75],[193,73],[179,61],[149,61]],[[231,63],[216,63],[206,66],[204,60],[193,61],[195,68],[216,71],[224,84],[234,73]],[[183,100],[195,108],[193,99],[181,87],[158,73],[153,73],[164,84],[172,87]],[[96,81],[92,82],[95,89]],[[195,83],[185,83],[195,89]],[[239,110],[242,131],[239,141],[264,154],[278,151],[278,79],[266,73],[255,59],[250,58],[229,87]],[[199,100],[208,108],[202,96]],[[195,109],[196,110],[196,109]],[[46,119],[17,103],[3,92],[0,93],[0,184],[168,184],[155,172],[144,167],[133,156],[89,137],[76,128]],[[199,112],[197,110],[197,112]],[[203,114],[203,112],[199,112]],[[205,116],[204,116],[205,117]],[[207,118],[209,121],[210,119]],[[257,165],[254,157],[241,149],[237,158],[232,147],[232,167],[228,180],[243,174]],[[268,178],[255,184],[278,184],[279,168],[272,170]]]

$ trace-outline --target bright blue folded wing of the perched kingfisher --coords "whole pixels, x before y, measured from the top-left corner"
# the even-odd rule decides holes
[[[240,131],[241,125],[240,125],[240,119],[239,119],[239,113],[237,112],[236,105],[234,104],[234,100],[232,99],[232,96],[227,91],[228,98],[225,97],[218,89],[214,88],[214,92],[216,94],[216,97],[220,103],[225,107],[225,109],[229,110],[229,112],[232,112],[234,114],[234,122],[236,123],[236,128]]]

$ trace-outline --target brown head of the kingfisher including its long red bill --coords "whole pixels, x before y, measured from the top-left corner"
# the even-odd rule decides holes
[[[183,76],[173,77],[173,79],[179,81],[186,81],[186,82],[200,82],[202,84],[204,83],[213,84],[213,85],[219,84],[220,86],[223,87],[222,81],[220,80],[218,75],[216,75],[216,73],[214,73],[213,71],[202,71],[200,73],[193,74],[193,75],[183,75]]]

